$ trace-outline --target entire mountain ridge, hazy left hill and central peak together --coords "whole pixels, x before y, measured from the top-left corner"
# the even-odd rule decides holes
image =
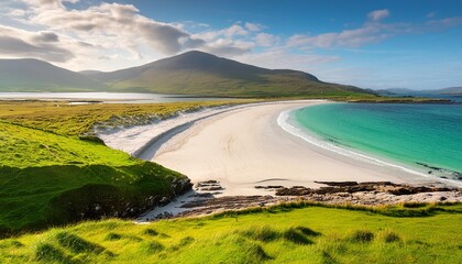
[[[18,66],[22,65],[22,66]],[[191,51],[113,72],[75,73],[37,59],[0,59],[0,91],[116,91],[217,97],[371,95],[293,69],[267,69]],[[3,81],[3,82],[1,82]],[[66,82],[67,81],[67,82]]]

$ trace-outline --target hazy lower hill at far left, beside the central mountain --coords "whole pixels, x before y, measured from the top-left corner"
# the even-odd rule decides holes
[[[0,91],[95,91],[106,85],[38,59],[0,59]]]

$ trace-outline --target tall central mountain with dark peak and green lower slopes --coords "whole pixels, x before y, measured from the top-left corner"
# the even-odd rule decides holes
[[[140,67],[81,74],[105,82],[113,91],[239,97],[369,94],[352,86],[323,82],[299,70],[266,69],[196,51]]]

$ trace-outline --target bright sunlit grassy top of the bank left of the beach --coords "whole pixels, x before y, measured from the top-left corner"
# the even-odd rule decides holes
[[[19,168],[95,164],[131,166],[140,163],[102,144],[1,121],[0,147],[1,165]]]

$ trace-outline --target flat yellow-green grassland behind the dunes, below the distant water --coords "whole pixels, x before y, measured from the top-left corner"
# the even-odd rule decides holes
[[[69,106],[64,101],[1,101],[0,121],[56,134],[80,135],[91,132],[94,125],[98,124],[142,124],[155,118],[170,117],[178,111],[252,101],[255,100],[84,106]]]

